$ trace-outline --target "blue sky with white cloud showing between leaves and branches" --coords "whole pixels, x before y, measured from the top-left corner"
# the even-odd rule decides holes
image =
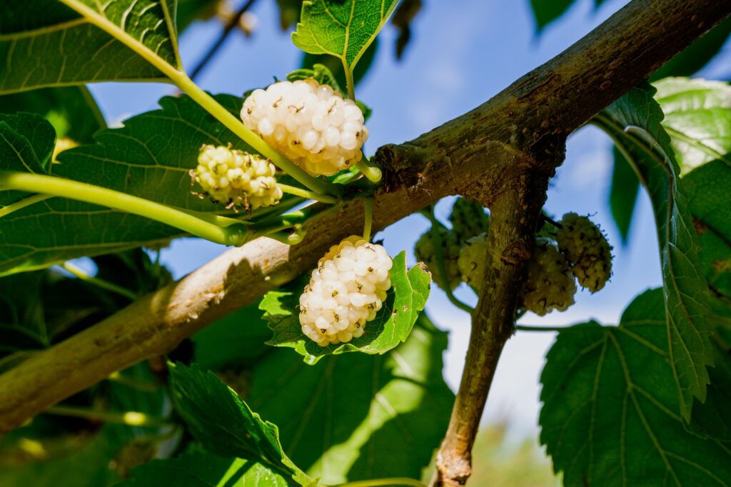
[[[241,2],[235,1],[238,5]],[[626,1],[607,0],[596,10],[593,0],[580,0],[542,35],[537,36],[529,0],[424,0],[422,12],[412,24],[412,42],[402,61],[395,61],[395,29],[387,26],[376,53],[374,67],[357,88],[357,97],[374,111],[368,121],[372,153],[385,143],[411,140],[485,102],[529,70],[560,53],[601,23]],[[242,94],[268,85],[273,76],[283,78],[296,69],[300,52],[288,32],[279,30],[276,3],[258,1],[251,11],[257,30],[249,39],[232,35],[219,56],[199,78],[213,93]],[[192,69],[219,35],[216,22],[195,23],[181,38],[183,64]],[[731,46],[701,73],[708,78],[728,78]],[[107,120],[118,123],[135,113],[154,109],[157,99],[173,94],[166,85],[102,83],[91,87]],[[526,324],[562,325],[594,318],[613,323],[638,292],[661,284],[659,257],[651,208],[642,195],[630,232],[622,246],[607,206],[610,181],[610,142],[596,129],[581,129],[569,139],[567,159],[553,180],[547,209],[560,216],[566,211],[594,214],[615,247],[614,276],[596,295],[580,292],[577,304],[565,313],[539,319],[526,315]],[[446,221],[451,199],[438,206]],[[412,216],[376,235],[384,238],[392,254],[406,249],[410,263],[414,238],[428,227],[422,216]],[[164,250],[162,259],[175,276],[182,276],[224,252],[213,243],[186,239]],[[471,290],[461,288],[458,297],[474,303]],[[434,287],[428,312],[450,331],[445,359],[447,382],[456,388],[469,339],[469,317],[448,303]],[[538,377],[553,333],[518,333],[504,350],[486,409],[485,420],[507,418],[513,431],[537,431]]]

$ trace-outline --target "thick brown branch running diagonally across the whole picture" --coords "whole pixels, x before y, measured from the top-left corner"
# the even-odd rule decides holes
[[[385,187],[375,195],[374,229],[457,192],[491,205],[520,177],[516,151],[550,175],[564,137],[731,11],[717,0],[635,0],[547,64],[470,113],[411,143],[379,149]],[[112,371],[177,341],[310,269],[327,246],[358,233],[353,202],[309,227],[287,247],[267,239],[232,249],[180,282],[0,375],[0,432],[87,388]]]

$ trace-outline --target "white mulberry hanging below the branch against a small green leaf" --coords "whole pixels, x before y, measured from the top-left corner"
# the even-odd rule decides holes
[[[353,236],[333,245],[300,295],[302,333],[320,347],[363,335],[391,287],[386,249]]]

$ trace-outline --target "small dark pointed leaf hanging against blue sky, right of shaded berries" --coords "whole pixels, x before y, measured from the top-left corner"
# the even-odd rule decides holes
[[[612,148],[612,153],[614,165],[609,189],[609,206],[617,230],[622,237],[622,243],[627,243],[632,214],[635,213],[637,195],[640,193],[640,180],[637,179],[632,166],[616,147]]]

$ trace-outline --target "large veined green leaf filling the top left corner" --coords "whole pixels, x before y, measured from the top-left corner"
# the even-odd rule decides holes
[[[138,52],[179,69],[171,12],[170,0],[110,0],[103,7],[96,0],[9,2],[0,20],[0,63],[6,67],[0,93],[93,81],[165,81]],[[92,22],[114,29],[137,52]]]

